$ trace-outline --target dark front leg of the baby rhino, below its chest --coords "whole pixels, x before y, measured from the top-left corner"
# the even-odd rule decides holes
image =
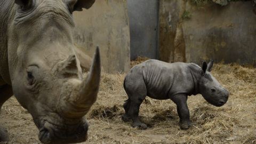
[[[186,94],[177,94],[171,98],[171,100],[177,105],[177,112],[180,118],[180,128],[183,130],[194,125],[189,118],[190,115],[187,105],[187,98],[188,96]]]

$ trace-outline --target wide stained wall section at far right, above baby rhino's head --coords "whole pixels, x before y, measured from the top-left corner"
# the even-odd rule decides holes
[[[188,62],[202,59],[240,65],[256,59],[256,6],[252,1],[232,2],[226,6],[210,3],[197,9],[187,3],[193,14],[183,22]],[[254,63],[255,65],[255,63]]]

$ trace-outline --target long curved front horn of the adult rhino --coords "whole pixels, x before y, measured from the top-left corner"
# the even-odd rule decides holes
[[[60,114],[67,118],[81,118],[88,113],[93,103],[97,100],[101,77],[100,51],[96,48],[90,74],[79,83],[78,80],[63,84],[59,103]]]

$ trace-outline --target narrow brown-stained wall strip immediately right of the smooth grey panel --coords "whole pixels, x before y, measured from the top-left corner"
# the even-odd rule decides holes
[[[181,17],[183,7],[184,2],[180,0],[159,1],[158,60],[174,62],[174,39],[176,37],[175,31],[177,29],[178,23],[182,22]]]

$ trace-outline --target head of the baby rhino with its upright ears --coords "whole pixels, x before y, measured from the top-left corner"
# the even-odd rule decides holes
[[[217,107],[223,106],[228,101],[229,92],[210,74],[213,66],[213,59],[211,59],[208,65],[205,61],[202,61],[201,66],[202,71],[200,74],[201,79],[199,81],[199,93],[201,93],[204,99],[212,105]]]

